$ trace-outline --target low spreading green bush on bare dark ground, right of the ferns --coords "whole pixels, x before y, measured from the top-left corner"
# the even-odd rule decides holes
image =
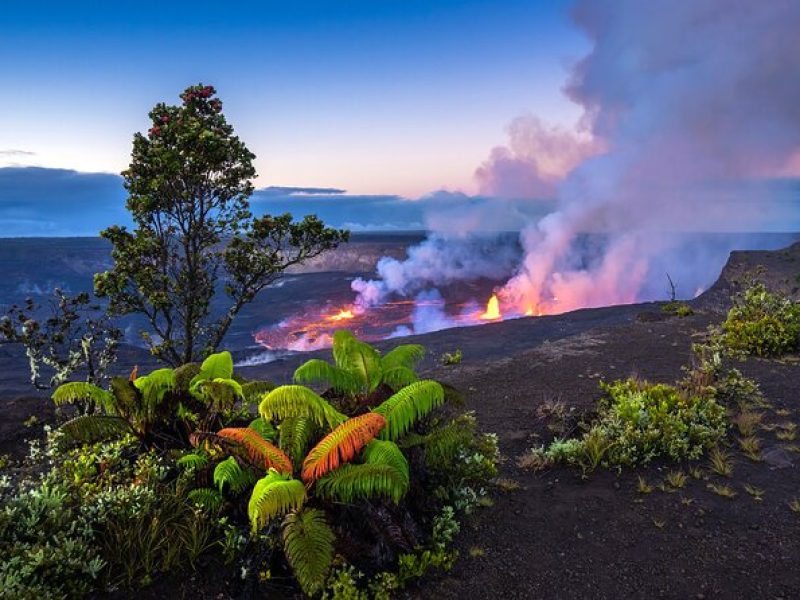
[[[580,438],[542,450],[548,460],[587,470],[660,457],[694,460],[725,435],[725,409],[712,396],[636,379],[601,387],[606,397],[597,419]]]

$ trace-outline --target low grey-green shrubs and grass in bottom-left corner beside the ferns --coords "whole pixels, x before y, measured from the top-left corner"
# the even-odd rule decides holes
[[[145,585],[156,574],[194,565],[221,542],[215,517],[186,498],[185,482],[135,439],[79,448],[60,432],[22,479],[0,497],[3,597],[76,598],[116,585]],[[7,560],[6,560],[7,559]]]

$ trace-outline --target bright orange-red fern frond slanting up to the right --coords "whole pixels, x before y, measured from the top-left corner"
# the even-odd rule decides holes
[[[303,461],[303,480],[319,479],[342,463],[350,461],[386,425],[378,413],[348,419],[326,435]]]

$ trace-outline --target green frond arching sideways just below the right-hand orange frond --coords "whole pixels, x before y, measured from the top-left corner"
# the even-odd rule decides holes
[[[408,491],[408,480],[392,465],[342,465],[317,481],[316,495],[351,503],[375,497],[400,502]]]

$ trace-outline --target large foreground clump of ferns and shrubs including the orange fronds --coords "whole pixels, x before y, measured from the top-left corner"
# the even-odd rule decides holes
[[[13,597],[148,585],[198,561],[242,586],[293,577],[308,596],[387,597],[455,560],[458,516],[482,503],[496,439],[451,391],[419,380],[424,349],[380,355],[345,331],[297,383],[201,365],[66,383],[66,419],[30,472],[2,480],[0,580]]]

